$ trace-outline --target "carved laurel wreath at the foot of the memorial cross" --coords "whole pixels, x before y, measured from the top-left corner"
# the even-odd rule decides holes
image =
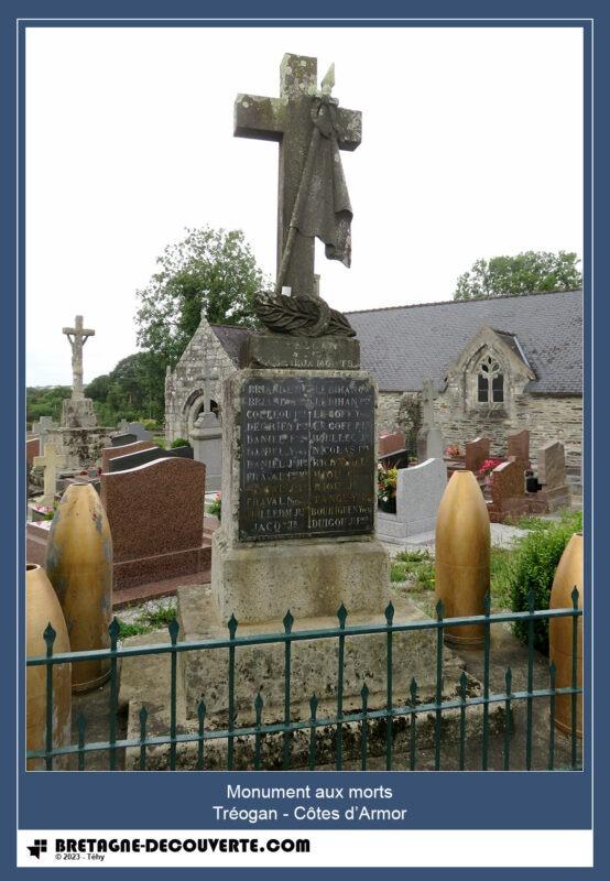
[[[261,291],[254,297],[254,311],[264,326],[276,334],[295,337],[356,336],[346,316],[331,309],[320,297],[286,296]]]

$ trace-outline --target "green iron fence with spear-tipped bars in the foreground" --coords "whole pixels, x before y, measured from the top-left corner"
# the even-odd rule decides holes
[[[109,627],[110,649],[90,652],[69,652],[54,654],[53,644],[55,631],[51,627],[44,632],[46,642],[46,655],[29,657],[28,666],[46,666],[46,743],[44,749],[28,751],[28,759],[43,760],[44,770],[52,771],[54,759],[61,755],[76,757],[76,764],[79,771],[86,769],[86,757],[92,752],[106,752],[108,754],[108,769],[117,769],[117,755],[119,751],[126,749],[139,750],[139,768],[146,770],[148,749],[151,747],[168,747],[167,766],[170,770],[176,769],[177,748],[187,743],[196,744],[196,769],[206,770],[206,744],[213,740],[227,741],[227,770],[235,770],[236,764],[236,740],[249,737],[253,739],[253,770],[264,770],[261,760],[261,744],[268,735],[280,736],[283,739],[281,766],[285,770],[291,769],[291,742],[292,736],[302,731],[308,737],[308,762],[311,770],[316,768],[316,737],[320,728],[335,729],[335,754],[334,765],[337,770],[344,770],[344,731],[347,726],[356,726],[360,731],[360,757],[359,768],[367,770],[370,768],[370,757],[368,750],[369,722],[377,721],[385,726],[385,744],[382,766],[386,770],[396,769],[394,751],[394,725],[399,719],[409,721],[407,728],[407,750],[404,764],[401,761],[401,770],[417,770],[418,749],[417,749],[417,718],[431,717],[434,719],[434,770],[442,770],[443,754],[443,714],[447,711],[457,713],[458,716],[458,759],[456,768],[466,768],[466,743],[467,743],[467,714],[472,707],[482,707],[482,732],[480,742],[480,770],[489,770],[489,744],[490,744],[490,708],[500,705],[504,709],[503,714],[503,738],[502,738],[502,760],[501,769],[511,770],[511,710],[520,701],[525,701],[525,755],[524,768],[533,768],[533,714],[534,704],[546,700],[548,706],[548,736],[547,736],[547,757],[546,769],[555,770],[556,761],[556,733],[555,733],[555,708],[556,699],[559,696],[570,698],[570,733],[568,737],[568,759],[564,768],[579,770],[581,759],[579,755],[578,728],[578,695],[582,689],[578,685],[578,618],[582,610],[578,608],[578,590],[574,588],[571,592],[573,608],[566,609],[545,609],[535,610],[534,594],[529,598],[529,611],[526,612],[502,612],[490,613],[490,596],[484,599],[483,614],[465,618],[444,618],[443,603],[436,606],[436,619],[421,621],[410,621],[405,623],[394,622],[394,608],[392,603],[385,609],[384,624],[370,624],[348,627],[348,613],[344,606],[338,610],[338,627],[325,630],[293,631],[294,619],[290,611],[286,613],[283,624],[283,633],[257,634],[238,637],[238,622],[235,617],[228,623],[228,639],[201,640],[193,642],[178,642],[178,622],[174,619],[167,626],[170,640],[167,643],[149,645],[123,645],[119,646],[119,623],[115,619]],[[536,622],[569,617],[573,620],[571,628],[571,685],[570,687],[556,687],[555,665],[548,665],[547,687],[534,688],[534,627]],[[490,653],[491,653],[491,628],[494,624],[521,621],[527,626],[527,660],[526,660],[526,683],[524,690],[513,690],[513,672],[510,667],[505,671],[505,687],[501,693],[492,692],[490,687]],[[443,699],[443,663],[444,663],[444,631],[446,628],[456,628],[468,624],[482,624],[484,632],[482,660],[482,694],[476,696],[468,695],[468,677],[466,672],[461,673],[458,684],[458,696],[451,699]],[[413,678],[410,688],[410,699],[404,705],[395,705],[392,687],[393,668],[395,663],[400,663],[400,656],[395,656],[393,648],[394,634],[405,631],[436,631],[436,688],[435,699],[428,703],[421,703],[418,698],[418,685]],[[386,657],[386,694],[385,706],[372,709],[369,707],[369,688],[367,684],[360,692],[361,707],[359,711],[344,711],[344,667],[345,667],[345,643],[348,638],[357,638],[364,634],[385,634],[385,657]],[[338,642],[338,664],[337,664],[337,693],[336,713],[333,716],[318,716],[319,699],[314,694],[309,699],[309,718],[293,719],[291,717],[291,652],[293,643],[303,640],[337,640]],[[262,721],[263,697],[260,690],[253,695],[254,724],[250,726],[236,726],[236,652],[243,646],[252,645],[284,645],[284,707],[283,721],[273,725],[265,725]],[[197,730],[187,733],[178,733],[177,730],[177,659],[181,652],[209,652],[226,651],[228,653],[228,724],[224,729],[206,728],[206,705],[200,700],[197,707]],[[469,652],[471,654],[471,652]],[[168,708],[170,721],[168,732],[163,736],[150,736],[148,732],[149,711],[145,707],[140,710],[140,736],[138,738],[117,737],[117,715],[119,701],[119,661],[128,657],[142,655],[170,655],[170,689]],[[87,742],[87,719],[83,714],[77,718],[77,743],[70,746],[56,747],[53,744],[53,668],[57,664],[78,663],[81,661],[106,660],[110,661],[110,682],[108,687],[108,740]],[[303,766],[303,765],[298,765]]]

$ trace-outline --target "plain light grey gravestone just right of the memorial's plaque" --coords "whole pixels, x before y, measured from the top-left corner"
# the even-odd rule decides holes
[[[434,532],[438,505],[446,487],[447,469],[443,459],[428,459],[412,468],[401,468],[396,486],[396,513],[378,513],[378,539],[404,544],[413,536]]]

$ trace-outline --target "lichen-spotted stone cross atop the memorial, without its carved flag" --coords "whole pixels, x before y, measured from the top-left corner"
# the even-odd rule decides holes
[[[317,90],[317,59],[284,55],[280,67],[280,97],[238,95],[235,104],[235,134],[280,143],[277,189],[277,270],[288,237],[298,185],[314,129],[312,96]],[[362,139],[359,110],[337,109],[338,144],[356,150]],[[298,233],[283,284],[293,296],[315,295],[315,239]]]

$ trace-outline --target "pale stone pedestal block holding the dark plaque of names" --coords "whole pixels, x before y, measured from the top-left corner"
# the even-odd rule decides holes
[[[309,342],[309,345],[315,345]],[[224,621],[381,612],[374,537],[377,390],[360,371],[246,369],[225,381],[222,522],[213,594]]]

